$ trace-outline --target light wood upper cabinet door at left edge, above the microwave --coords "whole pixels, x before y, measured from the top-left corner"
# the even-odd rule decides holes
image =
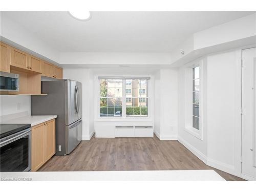
[[[11,47],[0,42],[0,71],[10,73]]]

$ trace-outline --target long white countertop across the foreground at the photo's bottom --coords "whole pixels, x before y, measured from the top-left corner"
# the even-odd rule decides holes
[[[4,181],[225,181],[215,170],[131,170],[103,172],[2,172]]]

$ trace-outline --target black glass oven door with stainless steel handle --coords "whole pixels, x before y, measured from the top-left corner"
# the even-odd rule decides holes
[[[0,151],[0,172],[28,172],[31,169],[31,129],[1,139]]]

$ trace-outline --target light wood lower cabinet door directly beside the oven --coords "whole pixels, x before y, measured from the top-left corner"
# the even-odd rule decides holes
[[[45,162],[45,125],[32,127],[31,133],[31,170],[35,172]]]

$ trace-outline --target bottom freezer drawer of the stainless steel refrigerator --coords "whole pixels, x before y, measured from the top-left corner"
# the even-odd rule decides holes
[[[66,125],[67,130],[67,154],[70,154],[74,148],[82,140],[82,119],[72,123],[71,125]]]

